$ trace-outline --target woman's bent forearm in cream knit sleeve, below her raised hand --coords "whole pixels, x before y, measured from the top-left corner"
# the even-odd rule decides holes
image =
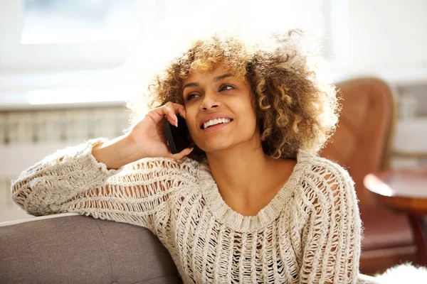
[[[107,170],[92,155],[94,147],[107,145],[105,138],[95,138],[48,155],[19,178],[11,181],[12,200],[33,215],[57,213],[61,204],[80,192],[105,184],[120,170]]]

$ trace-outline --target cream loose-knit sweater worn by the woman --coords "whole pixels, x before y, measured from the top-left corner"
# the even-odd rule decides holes
[[[77,212],[144,226],[184,283],[364,283],[361,221],[346,170],[300,151],[288,182],[255,216],[223,201],[208,166],[144,158],[107,170],[97,138],[57,151],[12,181],[34,215]]]

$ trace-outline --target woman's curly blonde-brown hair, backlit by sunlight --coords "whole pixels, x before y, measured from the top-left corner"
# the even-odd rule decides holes
[[[295,159],[302,149],[319,151],[334,133],[339,103],[332,84],[317,80],[307,55],[295,40],[299,30],[275,35],[268,44],[246,44],[237,37],[215,34],[196,40],[174,58],[162,74],[149,84],[148,107],[167,102],[184,104],[182,82],[193,72],[211,72],[221,64],[251,85],[253,106],[260,129],[263,151],[272,158]],[[131,121],[141,119],[137,104],[128,104]],[[190,138],[191,140],[191,138]],[[189,155],[206,162],[206,153],[191,140]]]

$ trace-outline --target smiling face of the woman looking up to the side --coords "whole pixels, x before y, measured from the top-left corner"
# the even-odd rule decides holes
[[[206,153],[239,145],[258,146],[260,135],[251,87],[223,67],[191,74],[183,84],[186,124]]]

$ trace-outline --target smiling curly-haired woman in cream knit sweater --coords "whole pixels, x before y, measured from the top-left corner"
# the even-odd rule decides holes
[[[14,201],[147,227],[184,283],[356,283],[353,181],[315,154],[337,123],[335,90],[296,46],[292,32],[268,46],[194,42],[130,131],[41,160],[12,182]],[[172,155],[162,125],[176,114],[191,148]]]

